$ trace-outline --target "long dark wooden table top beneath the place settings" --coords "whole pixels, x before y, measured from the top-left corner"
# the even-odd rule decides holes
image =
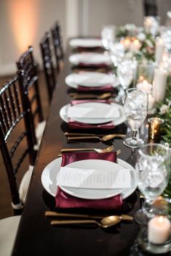
[[[45,218],[46,210],[55,210],[54,197],[51,197],[41,184],[41,173],[46,165],[58,157],[60,150],[65,147],[95,147],[104,148],[107,144],[99,141],[81,141],[68,143],[64,131],[69,131],[67,124],[59,117],[59,110],[64,104],[70,102],[64,78],[70,73],[68,57],[70,49],[65,56],[64,70],[59,75],[59,83],[54,91],[51,109],[43,135],[40,151],[33,177],[30,182],[25,209],[22,213],[17,239],[14,244],[13,256],[114,256],[114,255],[146,255],[136,244],[139,226],[132,223],[121,222],[109,229],[90,226],[51,226],[50,219]],[[127,133],[127,125],[118,125],[113,131]],[[101,133],[101,131],[96,131]],[[141,136],[146,139],[146,127],[141,128]],[[109,143],[108,143],[109,144]],[[116,150],[121,149],[120,159],[135,165],[136,150],[124,146],[122,139],[114,139]],[[140,207],[138,191],[125,199],[122,212],[134,215]],[[68,212],[68,211],[67,211]],[[77,210],[75,211],[77,212]],[[80,210],[80,212],[95,213],[93,210]],[[103,213],[103,211],[97,211]],[[96,213],[97,213],[96,212]],[[116,212],[107,212],[112,215]]]

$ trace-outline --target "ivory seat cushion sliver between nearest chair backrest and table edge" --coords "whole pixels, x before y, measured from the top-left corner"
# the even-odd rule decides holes
[[[30,178],[33,173],[33,168],[34,168],[33,165],[29,165],[27,172],[22,177],[22,181],[20,182],[19,194],[23,204],[25,203],[25,198],[27,196],[28,186],[30,184]]]

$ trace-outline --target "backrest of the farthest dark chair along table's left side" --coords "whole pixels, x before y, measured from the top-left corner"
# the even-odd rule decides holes
[[[51,28],[51,36],[54,45],[54,53],[57,60],[57,70],[62,68],[62,62],[64,59],[64,51],[62,46],[62,35],[59,22],[55,22],[54,26]]]

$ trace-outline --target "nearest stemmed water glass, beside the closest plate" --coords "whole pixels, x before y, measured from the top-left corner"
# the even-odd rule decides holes
[[[135,220],[144,223],[155,215],[153,203],[167,186],[170,174],[170,154],[163,144],[146,144],[138,151],[135,169],[138,170],[138,189],[145,202],[135,212]]]

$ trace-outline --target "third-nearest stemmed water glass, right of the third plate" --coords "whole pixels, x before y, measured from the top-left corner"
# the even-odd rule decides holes
[[[117,66],[117,78],[120,80],[120,98],[125,101],[125,91],[133,81],[133,62],[130,59],[123,59]]]

